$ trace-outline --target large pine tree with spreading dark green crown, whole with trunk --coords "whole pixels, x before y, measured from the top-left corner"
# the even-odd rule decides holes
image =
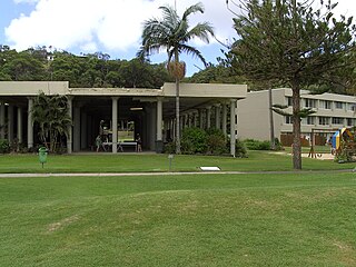
[[[352,18],[336,19],[336,4],[312,0],[246,0],[243,13],[234,19],[240,39],[233,52],[251,80],[283,82],[293,91],[293,166],[301,169],[300,88],[326,85],[340,69],[355,66],[347,60],[355,42]]]

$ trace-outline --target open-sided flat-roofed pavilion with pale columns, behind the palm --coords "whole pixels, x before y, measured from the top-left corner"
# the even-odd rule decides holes
[[[165,83],[160,89],[70,88],[63,81],[0,81],[0,138],[10,142],[16,138],[28,148],[39,144],[38,127],[30,112],[33,97],[39,92],[68,97],[73,122],[66,140],[69,154],[91,149],[100,122],[110,134],[107,144],[113,154],[123,139],[134,139],[137,134],[141,136],[144,149],[158,152],[162,150],[162,142],[175,138],[175,83]],[[230,150],[235,156],[236,107],[246,95],[246,85],[180,83],[180,128],[222,129],[230,136]]]

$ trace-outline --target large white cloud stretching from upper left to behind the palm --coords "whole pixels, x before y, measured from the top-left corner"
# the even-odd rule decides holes
[[[110,51],[138,49],[142,22],[160,16],[158,7],[175,4],[174,0],[14,0],[36,3],[28,16],[13,19],[6,28],[11,47],[19,50],[36,46],[60,49],[85,49],[88,52],[103,48]],[[182,11],[197,0],[178,0]],[[225,0],[202,0],[206,12],[192,16],[191,24],[209,21],[217,37],[234,36],[231,13]],[[197,46],[202,43],[197,42]]]

